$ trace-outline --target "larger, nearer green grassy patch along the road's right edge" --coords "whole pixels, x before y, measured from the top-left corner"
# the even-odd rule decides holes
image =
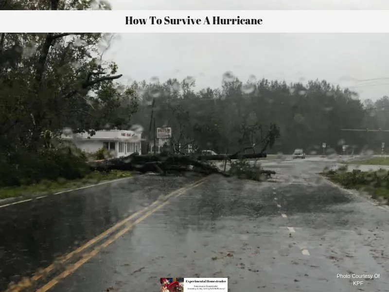
[[[389,171],[347,171],[346,168],[337,171],[329,170],[322,175],[333,183],[346,189],[367,192],[373,199],[389,201]]]

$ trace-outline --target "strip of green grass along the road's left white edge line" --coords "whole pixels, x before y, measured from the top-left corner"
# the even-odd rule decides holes
[[[23,185],[18,187],[0,188],[0,199],[19,197],[19,196],[34,196],[43,194],[52,194],[64,190],[74,189],[91,184],[101,183],[120,178],[130,177],[131,171],[112,170],[110,172],[94,171],[88,174],[83,179],[65,180],[59,178],[57,181],[42,181],[33,185]]]

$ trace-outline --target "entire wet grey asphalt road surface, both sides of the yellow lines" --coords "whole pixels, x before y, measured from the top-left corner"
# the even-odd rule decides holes
[[[0,291],[151,292],[175,276],[389,291],[389,211],[317,175],[332,164],[268,161],[266,183],[142,176],[0,208]]]

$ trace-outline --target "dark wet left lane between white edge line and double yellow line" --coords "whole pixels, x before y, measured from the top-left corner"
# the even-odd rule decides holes
[[[0,291],[195,179],[131,178],[1,208]]]

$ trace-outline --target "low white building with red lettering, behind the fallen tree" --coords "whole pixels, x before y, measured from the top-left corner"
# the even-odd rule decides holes
[[[129,130],[101,130],[96,131],[93,136],[88,133],[62,135],[61,139],[71,140],[78,148],[89,153],[104,147],[114,157],[123,157],[134,152],[141,154],[141,133]]]

